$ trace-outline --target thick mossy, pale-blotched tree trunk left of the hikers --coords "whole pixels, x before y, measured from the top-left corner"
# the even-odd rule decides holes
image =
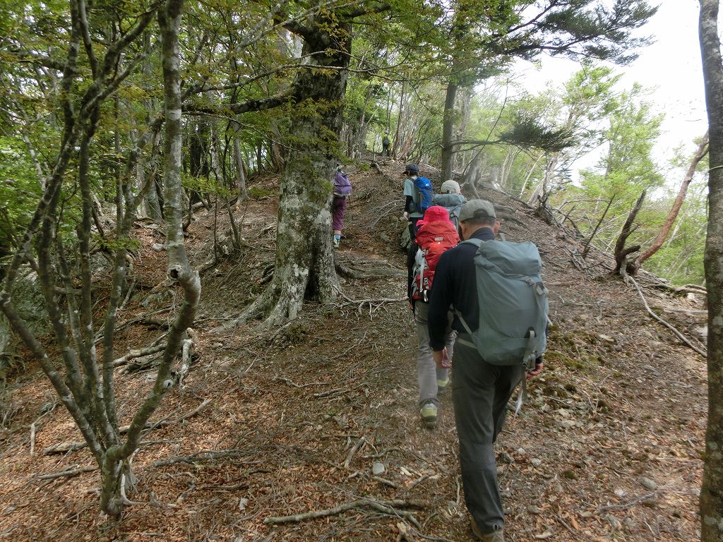
[[[335,298],[338,278],[331,244],[331,179],[342,124],[345,69],[351,51],[351,25],[334,12],[318,12],[288,30],[304,39],[302,56],[330,69],[299,70],[295,108],[284,156],[276,232],[275,271],[270,285],[244,318],[265,317],[275,325],[295,318],[304,299]]]

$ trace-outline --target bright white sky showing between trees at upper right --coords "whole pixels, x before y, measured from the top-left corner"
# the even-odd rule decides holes
[[[698,0],[657,0],[662,4],[642,35],[650,35],[654,43],[639,51],[630,66],[613,66],[623,73],[620,84],[625,88],[638,82],[651,88],[650,100],[656,110],[665,113],[662,135],[654,154],[659,166],[667,168],[667,158],[681,143],[692,152],[693,139],[701,137],[707,128],[703,95],[701,53],[698,46]],[[651,0],[652,4],[656,0]],[[529,91],[539,91],[547,81],[562,83],[578,69],[565,59],[542,57],[542,69],[536,72],[532,64],[519,62],[515,71],[524,73]],[[592,157],[589,157],[589,159]],[[588,160],[582,167],[591,165]],[[594,160],[592,160],[594,162]]]

